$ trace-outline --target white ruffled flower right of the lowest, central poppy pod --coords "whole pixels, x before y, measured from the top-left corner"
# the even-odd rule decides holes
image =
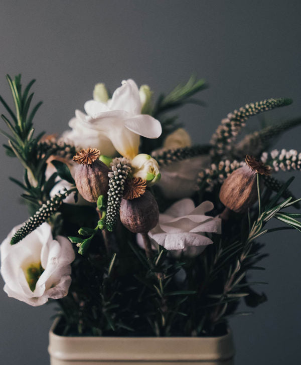
[[[191,248],[191,255],[199,254],[213,243],[206,233],[221,233],[221,219],[205,216],[212,209],[211,202],[203,202],[195,208],[191,199],[182,199],[160,214],[158,225],[148,235],[167,250]]]

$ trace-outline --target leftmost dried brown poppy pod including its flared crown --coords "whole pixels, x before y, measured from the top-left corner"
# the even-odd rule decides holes
[[[96,148],[82,149],[73,160],[79,164],[75,170],[74,180],[79,194],[88,202],[95,203],[100,195],[108,192],[109,168],[98,157]]]

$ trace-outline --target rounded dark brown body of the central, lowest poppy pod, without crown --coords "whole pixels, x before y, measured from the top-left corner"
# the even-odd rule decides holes
[[[124,227],[133,233],[147,233],[159,221],[158,204],[148,191],[133,200],[122,199],[120,220]]]

